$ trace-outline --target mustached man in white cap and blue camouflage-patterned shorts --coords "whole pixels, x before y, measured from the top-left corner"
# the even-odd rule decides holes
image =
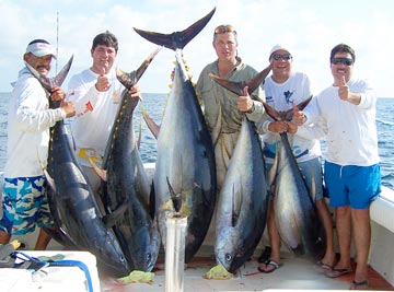
[[[40,75],[47,75],[56,52],[44,39],[31,42],[23,56]],[[49,95],[49,96],[48,96]],[[49,128],[56,121],[74,114],[74,105],[63,102],[59,108],[49,108],[48,97],[62,101],[66,94],[54,87],[48,94],[39,81],[24,67],[13,84],[8,115],[7,163],[2,192],[0,244],[11,235],[33,232],[36,226],[51,226],[45,192],[42,163],[47,161]],[[50,237],[43,230],[35,249],[45,249]]]

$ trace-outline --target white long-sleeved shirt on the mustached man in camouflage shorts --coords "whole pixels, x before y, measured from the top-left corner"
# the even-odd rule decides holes
[[[4,177],[43,175],[49,128],[63,118],[65,110],[50,109],[48,93],[27,68],[22,69],[9,104]]]

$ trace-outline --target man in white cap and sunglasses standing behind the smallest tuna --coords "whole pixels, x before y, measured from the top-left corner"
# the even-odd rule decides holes
[[[312,95],[309,77],[305,73],[292,71],[293,57],[289,49],[281,45],[274,46],[269,52],[269,61],[271,63],[273,74],[266,79],[264,90],[266,93],[266,103],[270,107],[285,113],[291,110],[294,105],[301,104]],[[335,252],[333,244],[333,220],[323,197],[322,152],[317,140],[324,136],[323,128],[320,127],[318,124],[308,127],[297,127],[285,119],[273,120],[271,118],[267,118],[258,124],[258,129],[263,133],[263,141],[265,143],[264,156],[267,163],[267,170],[269,171],[271,167],[277,153],[276,144],[277,141],[280,140],[278,133],[287,132],[309,189],[315,186],[314,199],[324,226],[327,243],[326,254],[320,261],[318,269],[325,271],[334,265]],[[281,240],[275,223],[275,213],[274,200],[271,200],[267,223],[271,253],[264,252],[258,258],[260,262],[258,270],[266,273],[273,272],[280,266]]]

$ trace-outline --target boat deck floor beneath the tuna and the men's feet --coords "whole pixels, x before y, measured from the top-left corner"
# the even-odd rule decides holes
[[[256,253],[257,254],[257,253]],[[159,262],[162,262],[159,259]],[[354,280],[354,273],[345,275],[336,279],[329,279],[314,270],[313,262],[296,258],[292,255],[282,255],[281,267],[271,273],[262,273],[257,270],[258,262],[256,259],[247,261],[234,276],[229,280],[207,280],[202,276],[216,266],[211,257],[199,256],[193,262],[187,265],[184,273],[184,291],[275,291],[275,290],[349,290]],[[101,278],[102,291],[131,292],[144,291],[157,292],[164,291],[164,267],[158,265],[154,271],[154,283],[129,283],[120,284],[114,279]],[[369,269],[370,290],[374,291],[394,291],[385,279],[383,279],[372,268]]]

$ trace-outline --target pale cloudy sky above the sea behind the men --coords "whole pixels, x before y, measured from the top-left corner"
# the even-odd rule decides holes
[[[332,84],[331,49],[339,44],[356,50],[355,75],[370,79],[378,97],[394,97],[394,4],[392,0],[0,0],[0,92],[23,68],[23,54],[34,38],[45,38],[58,49],[51,74],[73,56],[71,75],[92,65],[95,35],[109,31],[119,42],[116,65],[136,70],[158,46],[132,27],[170,34],[216,12],[207,26],[184,48],[194,82],[202,68],[216,60],[212,34],[232,24],[239,35],[237,54],[257,71],[268,65],[276,44],[293,55],[293,70],[310,75],[317,94]],[[139,85],[142,93],[169,93],[174,51],[163,48]]]

